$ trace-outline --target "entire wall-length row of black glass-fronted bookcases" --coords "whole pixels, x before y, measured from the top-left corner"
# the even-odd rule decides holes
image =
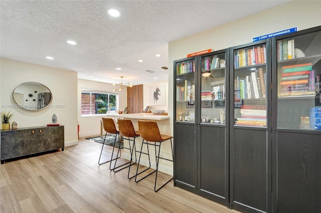
[[[244,212],[321,209],[321,26],[174,70],[176,186]]]

